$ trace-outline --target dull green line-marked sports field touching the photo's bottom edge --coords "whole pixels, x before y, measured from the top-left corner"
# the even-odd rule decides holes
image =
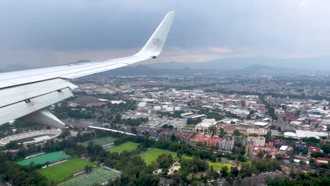
[[[88,185],[95,185],[108,181],[109,179],[114,179],[120,175],[120,172],[111,171],[106,168],[99,168],[97,170],[92,171],[92,173],[85,174],[78,176],[77,178],[73,178],[68,180],[67,182],[63,182],[60,184],[61,186],[88,186]]]

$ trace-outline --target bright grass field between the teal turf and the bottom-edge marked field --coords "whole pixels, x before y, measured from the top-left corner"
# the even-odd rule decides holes
[[[82,159],[71,159],[55,166],[39,169],[38,172],[47,179],[59,183],[69,178],[75,171],[83,170],[85,166],[95,166],[95,163]]]

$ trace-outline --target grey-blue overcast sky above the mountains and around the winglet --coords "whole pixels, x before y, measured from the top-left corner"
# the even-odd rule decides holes
[[[0,64],[53,66],[134,54],[176,11],[158,61],[329,56],[329,0],[0,1]]]

